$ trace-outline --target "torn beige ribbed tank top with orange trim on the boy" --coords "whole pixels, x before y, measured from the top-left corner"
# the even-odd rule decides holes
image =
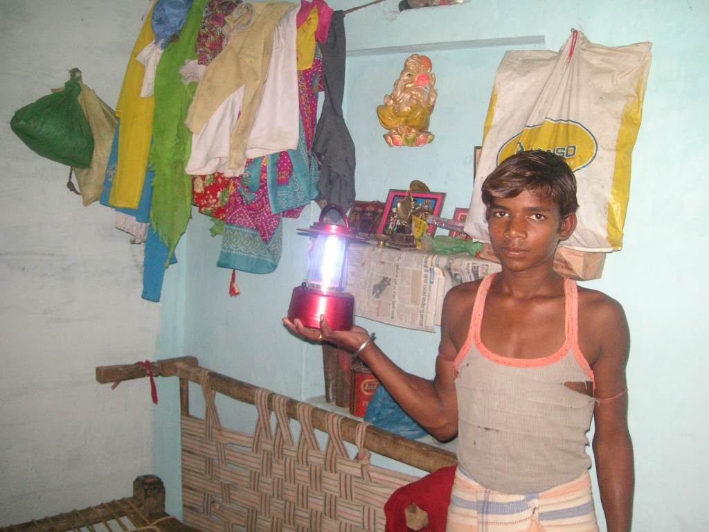
[[[565,382],[593,382],[579,349],[576,282],[564,279],[566,340],[542,358],[508,358],[480,336],[494,275],[478,289],[466,343],[454,360],[458,399],[458,462],[476,482],[508,494],[543,492],[591,467],[586,432],[593,397]]]

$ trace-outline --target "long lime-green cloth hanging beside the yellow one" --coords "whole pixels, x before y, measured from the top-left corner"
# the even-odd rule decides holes
[[[197,32],[208,0],[195,0],[187,12],[177,41],[168,43],[155,72],[155,111],[152,118],[150,161],[155,167],[152,182],[150,223],[172,257],[187,228],[192,204],[192,180],[184,172],[189,160],[192,133],[184,125],[197,84],[185,85],[179,69],[195,60]]]

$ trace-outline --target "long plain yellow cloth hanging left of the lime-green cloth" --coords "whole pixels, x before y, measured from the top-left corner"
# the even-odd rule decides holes
[[[155,40],[151,21],[152,8],[145,16],[143,29],[140,30],[133,52],[130,53],[116,105],[116,116],[121,118],[118,125],[118,165],[108,203],[126,209],[138,209],[152,137],[152,109],[155,99],[152,96],[140,97],[145,67],[135,59],[143,48]]]

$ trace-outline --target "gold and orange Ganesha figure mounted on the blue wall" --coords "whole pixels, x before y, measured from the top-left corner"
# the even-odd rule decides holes
[[[384,140],[390,146],[422,146],[435,135],[428,131],[438,93],[431,60],[425,55],[410,55],[384,105],[377,106],[379,123],[389,130]]]

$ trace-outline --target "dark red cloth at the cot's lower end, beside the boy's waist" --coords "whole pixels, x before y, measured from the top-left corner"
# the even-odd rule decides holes
[[[456,465],[441,467],[393,492],[384,504],[386,515],[384,530],[408,532],[404,510],[413,502],[428,514],[428,526],[421,528],[422,532],[445,532],[456,467]]]

